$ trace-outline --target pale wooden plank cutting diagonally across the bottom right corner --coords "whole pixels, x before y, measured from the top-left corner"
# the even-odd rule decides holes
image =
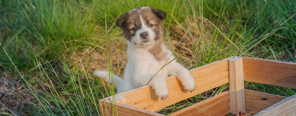
[[[254,116],[295,116],[295,112],[296,94],[262,110]]]

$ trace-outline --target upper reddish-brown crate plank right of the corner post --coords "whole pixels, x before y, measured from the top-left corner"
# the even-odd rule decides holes
[[[296,63],[243,57],[245,81],[296,89]]]

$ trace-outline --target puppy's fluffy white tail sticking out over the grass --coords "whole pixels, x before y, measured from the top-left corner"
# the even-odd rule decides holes
[[[117,88],[117,89],[123,83],[123,79],[122,78],[120,78],[117,75],[114,75],[112,73],[110,74],[110,78],[109,78],[109,72],[106,71],[106,70],[104,70],[104,71],[97,70],[97,71],[93,72],[93,74],[95,76],[101,77],[103,80],[108,81],[111,84],[112,84],[112,81],[113,81],[113,86],[115,88]]]

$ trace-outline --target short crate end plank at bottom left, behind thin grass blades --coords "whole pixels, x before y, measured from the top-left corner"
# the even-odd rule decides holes
[[[107,106],[108,115],[105,104]],[[125,104],[116,103],[115,105],[115,102],[113,105],[115,110],[112,112],[112,103],[109,100],[105,100],[105,102],[104,100],[99,100],[99,105],[103,116],[165,116],[163,114],[138,109]]]

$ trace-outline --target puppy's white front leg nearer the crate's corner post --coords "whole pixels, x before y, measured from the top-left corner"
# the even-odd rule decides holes
[[[181,81],[185,90],[192,92],[195,89],[195,81],[187,68],[177,62],[173,62],[169,68],[170,75],[176,76]]]

